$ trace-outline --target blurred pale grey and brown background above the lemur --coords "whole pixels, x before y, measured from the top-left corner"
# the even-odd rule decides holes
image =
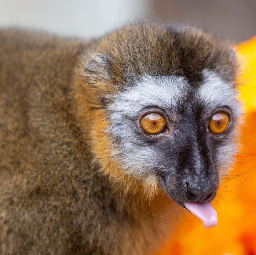
[[[0,0],[0,26],[98,37],[129,20],[189,23],[235,43],[256,35],[256,0]]]

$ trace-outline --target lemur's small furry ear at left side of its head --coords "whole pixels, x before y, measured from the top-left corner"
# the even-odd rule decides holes
[[[110,60],[102,54],[91,54],[91,58],[84,66],[84,75],[88,84],[97,94],[105,97],[114,92],[110,75]]]

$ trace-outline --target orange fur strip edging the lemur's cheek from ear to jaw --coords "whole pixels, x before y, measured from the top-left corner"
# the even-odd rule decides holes
[[[100,84],[99,84],[100,85]],[[129,173],[129,169],[123,169],[118,158],[115,157],[115,145],[106,129],[109,127],[109,119],[104,107],[95,102],[97,96],[86,81],[79,79],[76,83],[79,94],[76,95],[77,116],[86,134],[85,139],[90,140],[90,149],[93,157],[100,162],[100,170],[109,176],[109,181],[116,182],[123,192],[132,191],[142,195],[142,199],[151,199],[159,192],[156,178],[141,176],[135,178]],[[88,136],[89,134],[89,136]]]

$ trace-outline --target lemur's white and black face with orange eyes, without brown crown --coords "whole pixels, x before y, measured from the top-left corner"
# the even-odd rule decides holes
[[[214,199],[236,152],[237,91],[205,69],[196,87],[184,77],[142,77],[109,105],[116,154],[133,175],[157,176],[180,205]]]

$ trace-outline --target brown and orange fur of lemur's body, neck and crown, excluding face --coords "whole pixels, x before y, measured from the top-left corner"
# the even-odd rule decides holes
[[[228,50],[220,56],[218,42],[199,30],[183,36],[212,47],[209,58],[219,66],[232,65]],[[148,55],[134,51],[147,43],[154,49]],[[206,60],[195,51],[194,63],[181,71],[181,48],[171,64],[154,56],[169,43],[175,40],[168,30],[150,24],[92,42],[0,31],[1,254],[152,254],[170,236],[176,205],[156,180],[130,176],[111,157],[102,98],[115,93],[113,84],[129,84],[135,63],[138,74],[162,65],[163,73],[183,71],[193,82],[195,61],[200,71]],[[108,55],[108,70],[94,53]]]

